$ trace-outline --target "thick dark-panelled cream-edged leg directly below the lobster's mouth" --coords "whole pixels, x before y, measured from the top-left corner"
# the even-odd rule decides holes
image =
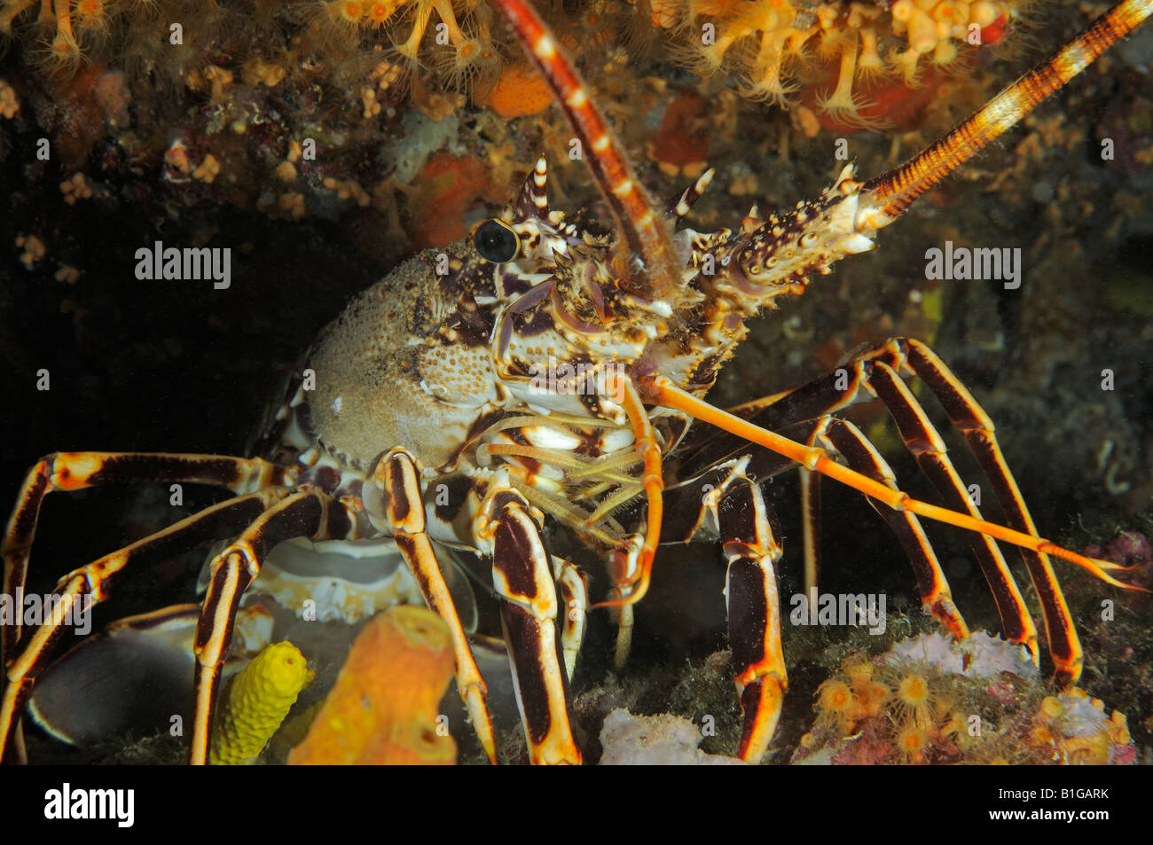
[[[482,541],[492,543],[492,584],[534,764],[580,764],[568,719],[568,689],[557,631],[551,558],[528,501],[498,489],[484,504]]]

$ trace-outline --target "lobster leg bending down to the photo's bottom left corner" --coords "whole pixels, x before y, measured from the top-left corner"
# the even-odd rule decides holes
[[[53,612],[44,625],[13,643],[5,665],[3,695],[0,700],[0,759],[24,762],[15,752],[20,718],[40,672],[48,665],[62,635],[62,625],[77,603],[103,602],[112,584],[128,567],[134,569],[168,560],[176,554],[234,537],[262,513],[284,498],[287,488],[267,488],[221,501],[161,531],[144,537],[111,554],[82,566],[60,579],[53,591]],[[59,597],[56,603],[55,597]],[[22,650],[16,650],[22,647]]]

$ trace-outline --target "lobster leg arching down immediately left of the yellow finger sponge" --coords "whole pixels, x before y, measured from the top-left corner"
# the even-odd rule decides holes
[[[193,765],[208,762],[220,673],[232,644],[241,596],[259,574],[261,561],[277,545],[294,537],[314,541],[329,537],[331,501],[331,497],[318,488],[294,492],[265,511],[212,559],[209,588],[193,646],[196,657],[196,712],[188,755]],[[342,512],[339,521],[347,528],[347,515]]]

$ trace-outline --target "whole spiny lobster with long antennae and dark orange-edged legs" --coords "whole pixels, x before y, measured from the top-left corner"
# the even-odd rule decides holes
[[[386,543],[402,556],[424,601],[450,626],[458,688],[495,760],[485,684],[438,548],[490,559],[530,759],[576,763],[567,684],[586,610],[612,609],[623,663],[632,605],[648,589],[657,545],[711,540],[728,561],[729,636],[744,711],[739,754],[759,761],[787,685],[774,568],[781,531],[760,483],[797,466],[806,588],[817,576],[819,478],[829,476],[869,497],[912,563],[922,605],[963,641],[969,628],[920,520],[979,533],[975,554],[1004,633],[1037,662],[1038,632],[996,541],[1018,546],[1058,679],[1078,678],[1080,646],[1050,558],[1116,586],[1125,584],[1108,571],[1122,567],[1038,534],[992,421],[924,344],[890,340],[836,374],[730,412],[704,397],[748,318],[802,293],[813,274],[831,272],[841,258],[872,249],[880,229],[1137,27],[1153,0],[1124,0],[897,169],[861,182],[845,167],[813,201],[764,216],[754,208],[738,229],[711,233],[675,225],[711,172],[666,206],[655,204],[533,8],[526,0],[493,5],[568,118],[613,218],[610,234],[581,231],[550,206],[542,158],[510,206],[472,240],[400,265],[321,334],[265,427],[258,457],[83,452],[42,459],[3,537],[9,595],[24,584],[48,492],[199,482],[236,496],[65,575],[44,625],[3,628],[6,760],[23,757],[21,715],[70,606],[103,599],[127,569],[227,541],[209,567],[194,648],[190,760],[205,762],[241,598],[278,545],[311,541]],[[940,400],[1008,526],[984,520],[970,501],[906,378],[921,379]],[[873,399],[887,406],[947,506],[900,491],[875,446],[837,416]],[[582,571],[549,552],[548,523],[608,561],[611,586],[600,604],[589,604]]]

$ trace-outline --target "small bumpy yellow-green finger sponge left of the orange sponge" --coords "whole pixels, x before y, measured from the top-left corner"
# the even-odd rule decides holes
[[[232,679],[212,737],[212,765],[247,765],[256,760],[296,703],[312,673],[291,642],[265,648]]]

